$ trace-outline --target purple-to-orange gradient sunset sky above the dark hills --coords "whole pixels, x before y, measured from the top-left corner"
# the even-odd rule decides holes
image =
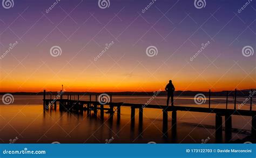
[[[158,91],[169,79],[176,90],[222,91],[256,87],[256,52],[242,55],[244,46],[256,50],[256,3],[206,0],[114,1],[100,9],[98,1],[14,0],[0,5],[1,92]],[[106,43],[114,42],[97,61]],[[202,43],[210,44],[197,58]],[[52,57],[59,46],[62,54]],[[157,56],[146,48],[156,46]]]

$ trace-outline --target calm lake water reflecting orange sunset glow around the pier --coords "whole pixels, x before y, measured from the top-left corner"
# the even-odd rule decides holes
[[[2,96],[1,96],[2,98]],[[215,115],[197,112],[177,112],[177,130],[171,130],[171,112],[169,113],[168,138],[163,137],[163,115],[160,109],[144,109],[143,126],[138,125],[138,109],[134,127],[130,122],[130,107],[121,108],[121,119],[117,114],[109,119],[104,114],[104,120],[87,114],[60,112],[49,109],[43,112],[42,95],[14,95],[14,103],[0,103],[0,142],[3,143],[215,143]],[[92,97],[95,98],[95,97]],[[129,102],[145,104],[148,96],[113,96],[113,102]],[[80,100],[88,100],[80,97]],[[174,105],[196,106],[193,97],[174,98]],[[225,98],[212,98],[211,107],[225,108]],[[229,101],[233,99],[230,98]],[[239,102],[245,98],[238,98]],[[215,102],[216,101],[216,102]],[[163,96],[154,98],[150,104],[165,105]],[[239,105],[239,104],[237,104]],[[208,107],[208,101],[200,107]],[[233,108],[230,102],[228,108]],[[244,105],[241,109],[249,109]],[[256,110],[255,107],[253,110]],[[224,122],[224,120],[223,120]],[[225,124],[223,125],[225,127]],[[244,139],[251,133],[251,117],[232,116],[232,140]],[[224,130],[223,130],[223,139]],[[224,141],[223,141],[224,142]]]

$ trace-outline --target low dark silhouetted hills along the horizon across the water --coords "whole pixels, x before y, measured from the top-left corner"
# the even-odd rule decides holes
[[[256,91],[254,88],[253,91]],[[237,96],[248,96],[250,94],[251,90],[242,90],[237,91]],[[9,92],[0,92],[0,95],[6,94]],[[109,95],[167,95],[165,91],[159,91],[159,92],[103,92]],[[180,95],[180,96],[194,96],[198,93],[203,93],[205,96],[208,96],[208,92],[202,92],[202,91],[175,91],[174,95]],[[256,92],[254,92],[256,93]],[[11,92],[13,95],[43,95],[43,92]],[[58,92],[47,92],[47,94],[53,94],[56,95]],[[97,92],[65,92],[65,95],[71,94],[79,94],[79,95],[99,95],[102,93]],[[220,91],[220,92],[211,92],[211,96],[226,96],[226,91]],[[234,91],[228,91],[228,95],[232,96],[234,95]]]

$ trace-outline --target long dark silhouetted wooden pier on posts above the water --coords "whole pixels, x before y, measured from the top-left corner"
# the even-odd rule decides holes
[[[211,93],[211,92],[210,92]],[[209,102],[210,102],[209,95]],[[113,116],[114,112],[117,112],[117,118],[120,119],[121,107],[131,107],[131,123],[134,125],[136,109],[138,109],[139,113],[139,125],[142,125],[143,121],[143,109],[144,108],[154,108],[160,109],[163,112],[163,133],[164,135],[168,131],[168,115],[171,112],[171,122],[172,129],[177,128],[177,111],[188,111],[188,112],[201,112],[201,113],[212,113],[215,114],[215,135],[216,138],[222,139],[223,133],[223,118],[225,120],[225,141],[229,142],[231,140],[232,135],[232,115],[240,115],[240,116],[251,116],[252,119],[252,136],[256,137],[256,111],[252,111],[252,98],[251,98],[251,106],[250,110],[242,110],[236,108],[236,96],[234,97],[234,108],[228,109],[227,104],[226,108],[211,108],[210,103],[209,107],[190,107],[190,106],[166,106],[166,105],[145,105],[145,104],[130,104],[124,102],[112,102],[112,95],[110,102],[105,104],[101,104],[101,102],[97,101],[97,95],[95,101],[92,101],[90,95],[89,100],[79,100],[79,95],[66,95],[66,99],[64,99],[64,95],[60,95],[59,98],[49,97],[46,95],[44,90],[44,99],[43,99],[43,107],[44,110],[47,110],[50,106],[54,109],[57,107],[57,102],[59,102],[59,110],[60,111],[70,111],[70,112],[82,112],[87,111],[90,113],[94,111],[94,114],[97,115],[97,111],[100,110],[100,118],[104,118],[104,111],[106,113],[110,113]],[[166,134],[167,135],[167,134]]]

